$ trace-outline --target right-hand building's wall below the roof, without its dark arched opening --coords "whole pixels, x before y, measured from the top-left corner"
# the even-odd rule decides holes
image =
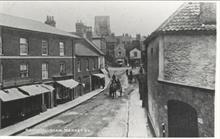
[[[159,36],[149,43],[147,59],[148,110],[156,135],[162,136],[165,123],[168,136],[167,102],[179,100],[196,109],[199,136],[213,137],[215,91],[208,87],[214,86],[215,36]],[[198,87],[204,77],[209,86]]]

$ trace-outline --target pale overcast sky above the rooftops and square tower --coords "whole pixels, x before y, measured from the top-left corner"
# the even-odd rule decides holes
[[[148,35],[168,18],[183,2],[0,2],[0,13],[44,22],[47,15],[54,16],[56,27],[75,31],[81,20],[94,29],[96,15],[110,16],[111,31],[116,35],[141,33]]]

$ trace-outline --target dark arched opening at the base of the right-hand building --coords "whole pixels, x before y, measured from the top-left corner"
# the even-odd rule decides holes
[[[178,100],[168,101],[168,136],[198,137],[196,110]]]

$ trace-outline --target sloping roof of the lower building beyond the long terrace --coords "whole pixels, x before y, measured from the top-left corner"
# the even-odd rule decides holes
[[[75,54],[76,56],[98,56],[97,53],[90,50],[88,47],[80,42],[75,44]]]

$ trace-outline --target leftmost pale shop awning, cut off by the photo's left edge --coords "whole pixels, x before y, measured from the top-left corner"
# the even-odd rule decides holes
[[[23,94],[17,88],[0,90],[0,99],[4,102],[26,98],[28,95]]]

